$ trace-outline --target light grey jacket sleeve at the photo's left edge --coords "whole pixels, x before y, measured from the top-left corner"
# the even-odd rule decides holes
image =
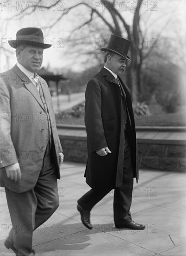
[[[11,137],[10,93],[0,78],[0,168],[18,162]]]

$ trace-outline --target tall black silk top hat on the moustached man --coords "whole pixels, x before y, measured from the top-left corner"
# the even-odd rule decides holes
[[[130,44],[130,40],[111,34],[108,46],[106,48],[101,48],[100,50],[103,52],[109,51],[118,54],[128,61],[131,61],[130,57],[127,55]]]

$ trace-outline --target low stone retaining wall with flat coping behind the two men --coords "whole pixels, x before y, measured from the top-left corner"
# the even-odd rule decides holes
[[[155,132],[156,131],[156,132]],[[86,130],[83,126],[58,127],[64,161],[87,162]],[[185,129],[136,128],[140,168],[185,171]],[[166,139],[160,139],[166,137]]]

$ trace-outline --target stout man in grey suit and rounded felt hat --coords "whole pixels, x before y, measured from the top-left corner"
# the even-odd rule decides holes
[[[40,28],[20,29],[17,64],[0,74],[0,186],[5,187],[12,229],[4,244],[17,256],[35,254],[32,232],[58,208],[63,153],[47,83],[36,73],[45,44]]]

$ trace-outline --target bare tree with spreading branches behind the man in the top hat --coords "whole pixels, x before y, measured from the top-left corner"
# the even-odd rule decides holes
[[[72,2],[72,5],[69,6],[69,4]],[[73,42],[75,40],[72,35],[77,32],[78,30],[81,30],[83,27],[88,26],[89,24],[93,24],[94,20],[98,18],[101,20],[101,22],[108,28],[108,31],[110,33],[128,38],[132,41],[131,47],[130,47],[130,55],[132,61],[128,63],[127,68],[127,76],[123,76],[123,80],[127,78],[127,84],[129,88],[132,90],[133,95],[133,101],[134,103],[138,101],[139,94],[141,93],[141,65],[143,61],[148,58],[149,54],[153,50],[154,47],[156,47],[157,38],[160,37],[160,34],[167,26],[167,23],[169,20],[167,20],[167,23],[164,25],[164,27],[160,28],[159,33],[157,33],[156,39],[151,40],[151,48],[147,48],[147,27],[145,30],[141,29],[141,5],[143,0],[136,0],[133,1],[133,5],[128,5],[128,1],[116,1],[116,0],[99,0],[99,1],[87,1],[87,0],[79,0],[79,1],[69,1],[68,6],[64,7],[65,1],[62,0],[56,0],[51,2],[50,6],[45,6],[45,9],[53,9],[56,7],[61,7],[63,9],[63,12],[61,15],[59,15],[53,22],[50,22],[49,25],[43,27],[43,28],[51,28],[54,27],[56,24],[58,24],[65,15],[68,15],[73,10],[76,10],[78,7],[83,7],[87,10],[89,15],[86,15],[86,17],[83,20],[83,22],[79,25],[79,22],[77,22],[77,26],[75,25],[75,28],[72,29],[71,35],[69,37],[69,40]],[[155,8],[156,1],[154,2],[154,6],[151,6],[151,8]],[[30,15],[33,12],[37,11],[37,8],[41,8],[44,2],[42,0],[34,1],[34,5],[31,4],[31,1],[28,1],[28,8],[26,11],[21,10],[19,13],[14,15],[14,17],[11,17],[11,19],[20,19],[25,15]],[[147,1],[144,2],[144,4],[147,4]],[[101,8],[100,8],[101,7]],[[127,22],[127,11],[130,12],[132,15],[132,25],[129,25]],[[170,16],[172,13],[170,13]],[[83,16],[81,15],[81,18]],[[148,21],[147,21],[148,24]],[[149,24],[150,26],[151,24]],[[77,40],[77,38],[76,38]],[[108,40],[107,40],[108,41]],[[86,54],[93,55],[92,50],[87,50]],[[95,54],[97,57],[98,55]],[[99,58],[99,57],[98,57]]]

